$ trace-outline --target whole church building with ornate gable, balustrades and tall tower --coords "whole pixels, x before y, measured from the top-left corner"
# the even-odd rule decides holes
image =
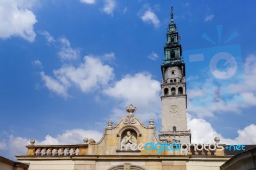
[[[136,107],[125,108],[124,117],[108,126],[100,141],[84,137],[83,144],[31,144],[26,155],[17,156],[29,170],[219,170],[232,156],[225,155],[220,138],[212,144],[191,144],[187,126],[186,70],[179,43],[179,32],[171,22],[166,33],[164,61],[161,65],[162,129],[156,134],[154,120],[143,125]]]

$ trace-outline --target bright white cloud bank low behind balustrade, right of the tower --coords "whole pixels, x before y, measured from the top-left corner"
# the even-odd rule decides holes
[[[198,118],[191,118],[188,114],[188,128],[191,129],[191,143],[214,143],[214,137],[221,138],[223,144],[255,144],[256,143],[256,125],[248,125],[242,130],[237,130],[235,139],[227,139],[216,132],[212,125]]]

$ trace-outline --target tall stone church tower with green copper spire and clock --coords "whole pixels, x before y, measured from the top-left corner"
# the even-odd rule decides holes
[[[166,36],[165,59],[161,65],[163,76],[161,83],[162,130],[159,132],[159,139],[190,143],[191,133],[188,131],[186,111],[185,63],[179,43],[180,36],[173,22],[173,7]]]

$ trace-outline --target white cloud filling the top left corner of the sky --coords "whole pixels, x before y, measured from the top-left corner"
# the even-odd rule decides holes
[[[29,42],[35,40],[33,26],[37,20],[29,9],[33,4],[31,1],[0,1],[0,38],[20,36]]]

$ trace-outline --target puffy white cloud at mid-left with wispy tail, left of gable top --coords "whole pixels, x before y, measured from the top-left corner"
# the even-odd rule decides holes
[[[79,66],[63,65],[53,73],[55,78],[41,72],[42,80],[48,89],[65,98],[68,97],[67,89],[70,86],[79,86],[86,93],[108,86],[108,82],[114,77],[113,68],[104,65],[94,56],[84,56],[84,62]]]

